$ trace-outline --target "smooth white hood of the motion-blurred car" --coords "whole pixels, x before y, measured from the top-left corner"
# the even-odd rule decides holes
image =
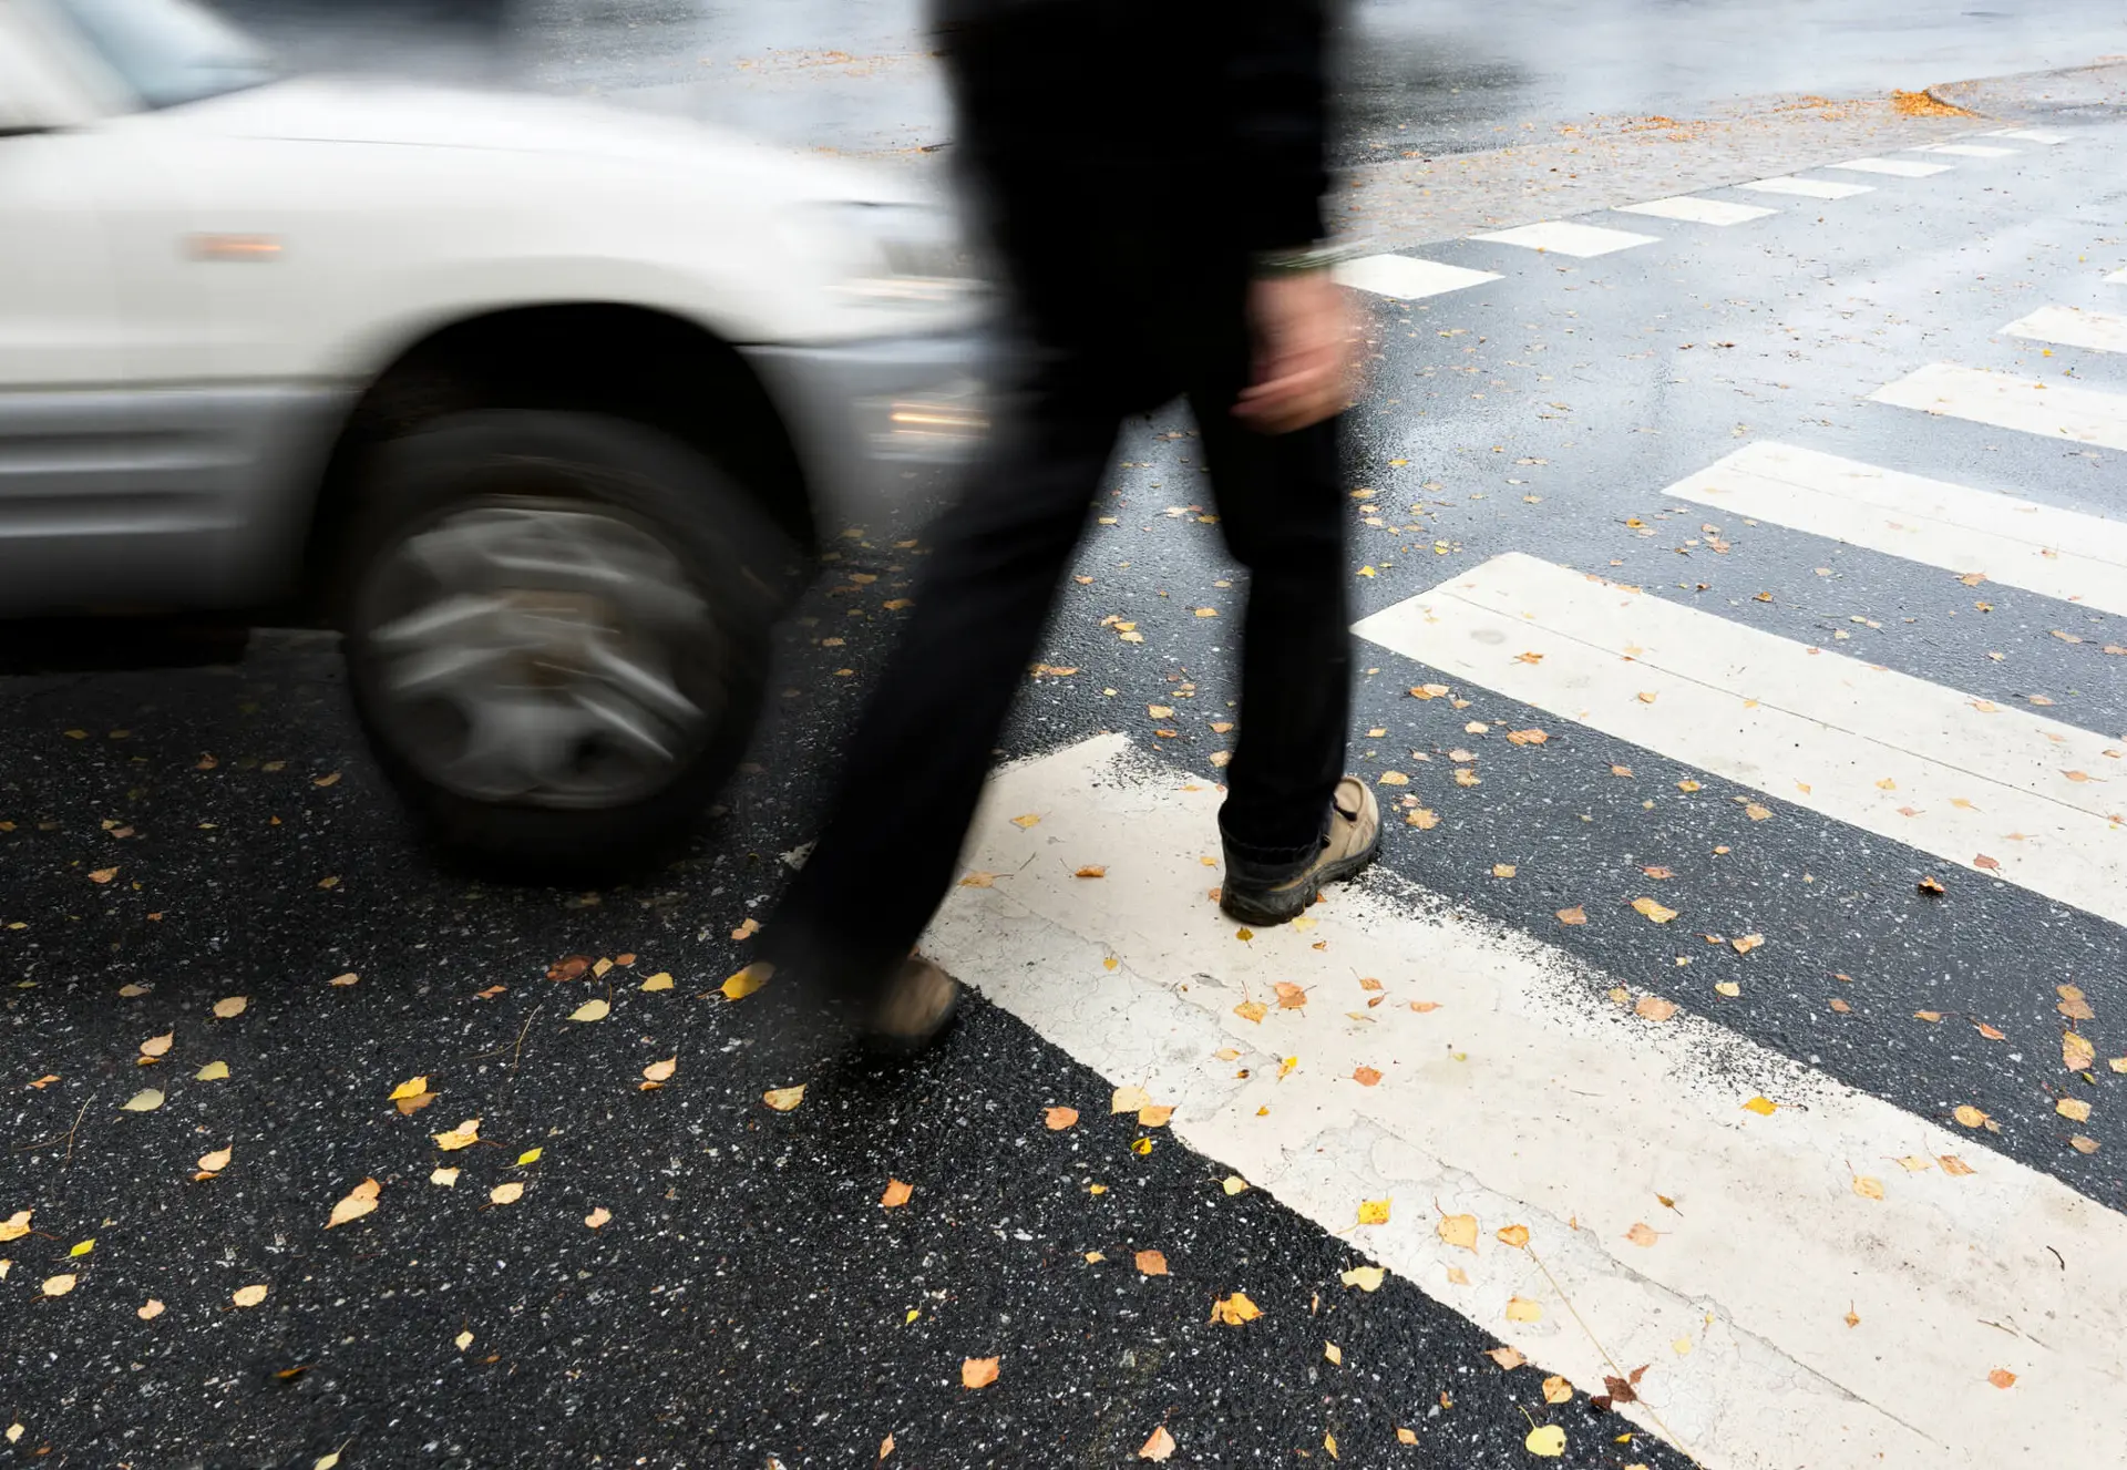
[[[185,108],[236,138],[540,153],[742,179],[753,198],[936,202],[889,170],[798,153],[676,117],[598,102],[336,77],[298,77]]]

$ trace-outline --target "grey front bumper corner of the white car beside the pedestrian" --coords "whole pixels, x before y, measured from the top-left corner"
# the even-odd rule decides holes
[[[906,470],[961,464],[987,436],[978,334],[742,351],[783,413],[823,536],[902,508]]]

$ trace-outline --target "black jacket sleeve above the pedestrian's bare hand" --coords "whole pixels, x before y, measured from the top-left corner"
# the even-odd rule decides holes
[[[1321,240],[1329,191],[1327,0],[1240,0],[1225,53],[1234,185],[1251,251]]]

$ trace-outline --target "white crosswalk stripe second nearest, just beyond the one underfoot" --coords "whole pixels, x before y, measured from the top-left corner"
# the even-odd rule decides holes
[[[1521,553],[1355,632],[1697,770],[2127,923],[2127,759],[2108,755],[2121,747],[2089,730]]]

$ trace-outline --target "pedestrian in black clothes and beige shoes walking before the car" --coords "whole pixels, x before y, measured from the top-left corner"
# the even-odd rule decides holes
[[[1372,862],[1344,776],[1351,649],[1329,279],[1325,0],[940,0],[955,151],[1015,302],[998,430],[849,745],[764,957],[912,1049],[959,987],[912,953],[1123,417],[1187,398],[1249,570],[1223,908],[1297,917]]]

